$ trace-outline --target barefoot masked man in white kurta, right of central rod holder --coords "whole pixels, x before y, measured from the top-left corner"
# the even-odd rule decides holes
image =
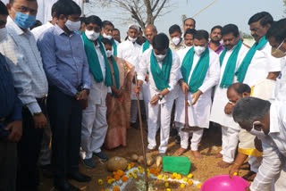
[[[188,30],[187,30],[188,31]],[[193,132],[190,149],[196,158],[202,158],[198,152],[198,144],[203,137],[204,129],[209,127],[211,109],[212,87],[218,84],[220,78],[219,57],[207,47],[208,33],[198,30],[194,35],[194,46],[189,49],[181,62],[181,85],[179,98],[176,101],[175,121],[180,124],[180,129],[185,123],[185,93],[188,92],[189,126],[198,127]],[[173,155],[180,156],[187,151],[189,132],[182,132],[181,148]]]

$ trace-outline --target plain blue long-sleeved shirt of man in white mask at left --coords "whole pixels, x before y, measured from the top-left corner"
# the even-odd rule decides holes
[[[78,87],[90,87],[88,59],[79,34],[69,36],[55,24],[38,38],[49,86],[74,96]]]

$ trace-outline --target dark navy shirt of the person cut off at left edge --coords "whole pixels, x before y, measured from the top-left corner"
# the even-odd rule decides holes
[[[3,118],[21,120],[21,101],[14,89],[12,73],[0,54],[0,119]]]

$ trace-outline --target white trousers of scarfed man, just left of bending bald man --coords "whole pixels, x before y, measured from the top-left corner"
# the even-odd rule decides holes
[[[234,161],[239,144],[239,133],[240,130],[222,126],[223,145],[221,154],[223,154],[223,162],[231,163]]]

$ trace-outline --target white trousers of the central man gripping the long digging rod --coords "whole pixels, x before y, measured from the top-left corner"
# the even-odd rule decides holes
[[[168,140],[170,135],[170,121],[172,112],[173,100],[167,101],[164,104],[156,104],[155,106],[148,104],[148,149],[156,147],[156,132],[158,130],[157,122],[160,122],[160,146],[159,153],[164,154],[167,151]],[[160,113],[161,112],[161,113]]]

